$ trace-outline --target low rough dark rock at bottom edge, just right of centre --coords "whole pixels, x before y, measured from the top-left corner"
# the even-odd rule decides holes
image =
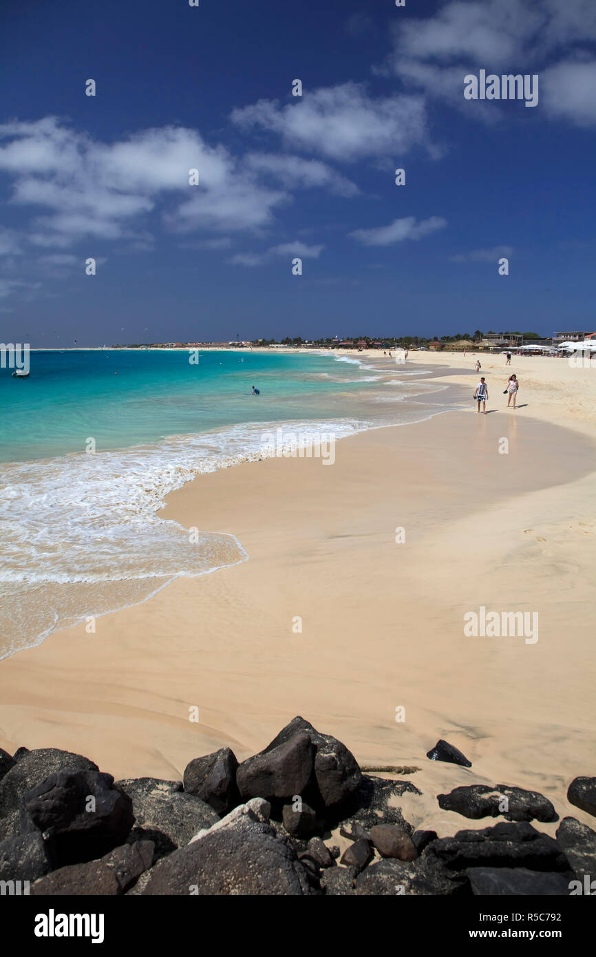
[[[386,857],[366,868],[356,881],[356,894],[376,897],[408,895],[468,895],[470,884],[463,875],[450,874],[436,858],[418,857],[406,862]]]

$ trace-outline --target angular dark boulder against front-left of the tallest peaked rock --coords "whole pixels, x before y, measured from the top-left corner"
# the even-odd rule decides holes
[[[276,747],[247,758],[236,771],[242,800],[264,797],[268,801],[302,796],[313,772],[314,748],[303,731]]]

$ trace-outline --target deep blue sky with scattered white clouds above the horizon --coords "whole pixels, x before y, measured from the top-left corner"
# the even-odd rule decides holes
[[[595,329],[595,43],[593,0],[4,0],[1,338]]]

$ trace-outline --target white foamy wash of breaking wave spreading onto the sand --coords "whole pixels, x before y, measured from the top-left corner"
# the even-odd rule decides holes
[[[2,467],[0,657],[65,628],[146,600],[179,575],[245,561],[233,535],[187,529],[157,512],[201,474],[272,454],[263,435],[345,435],[356,420],[253,423],[153,446]]]

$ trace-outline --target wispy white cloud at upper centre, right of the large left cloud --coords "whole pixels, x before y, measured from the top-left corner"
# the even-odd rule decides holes
[[[373,99],[363,84],[353,82],[306,90],[285,106],[258,100],[233,110],[232,122],[245,130],[268,130],[287,145],[341,162],[400,155],[427,141],[421,97]]]

